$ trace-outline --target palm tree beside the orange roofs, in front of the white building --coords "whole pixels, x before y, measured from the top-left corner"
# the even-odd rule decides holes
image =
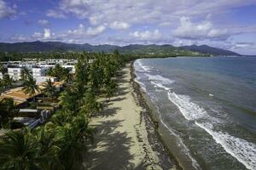
[[[25,94],[33,96],[33,102],[35,102],[35,94],[39,92],[39,88],[36,81],[32,77],[25,80],[22,90],[24,90]]]

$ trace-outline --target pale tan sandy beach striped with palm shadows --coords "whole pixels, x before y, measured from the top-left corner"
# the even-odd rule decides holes
[[[154,130],[145,108],[138,105],[131,86],[131,64],[119,72],[119,87],[106,108],[92,117],[96,127],[95,144],[84,154],[84,168],[176,169]]]

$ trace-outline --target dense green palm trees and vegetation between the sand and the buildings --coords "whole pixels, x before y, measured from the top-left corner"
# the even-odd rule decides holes
[[[47,90],[44,93],[58,97],[61,105],[49,122],[33,130],[11,130],[0,140],[0,169],[69,170],[81,167],[86,146],[93,142],[96,133],[96,129],[89,125],[90,117],[102,110],[97,99],[113,95],[113,89],[116,88],[113,77],[132,58],[120,55],[117,51],[113,54],[82,53],[77,58],[79,62],[73,82],[66,84],[60,96],[53,93],[51,82],[45,85]],[[36,92],[32,80],[28,79],[24,84],[27,93]],[[8,112],[5,115],[9,117],[5,119],[11,119],[15,106],[0,108],[1,113],[2,110]]]

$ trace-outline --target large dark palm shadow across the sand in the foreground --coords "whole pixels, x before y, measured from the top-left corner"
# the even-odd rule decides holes
[[[121,122],[123,121],[113,120],[95,126],[96,140],[95,144],[89,146],[89,152],[84,156],[85,169],[145,169],[143,164],[135,167],[131,163],[134,156],[129,152],[132,142],[131,138],[127,137],[127,133],[114,132],[115,128],[122,126]]]

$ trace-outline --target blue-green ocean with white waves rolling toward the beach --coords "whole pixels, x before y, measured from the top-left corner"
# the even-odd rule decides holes
[[[137,59],[134,69],[186,169],[256,169],[255,57]]]

